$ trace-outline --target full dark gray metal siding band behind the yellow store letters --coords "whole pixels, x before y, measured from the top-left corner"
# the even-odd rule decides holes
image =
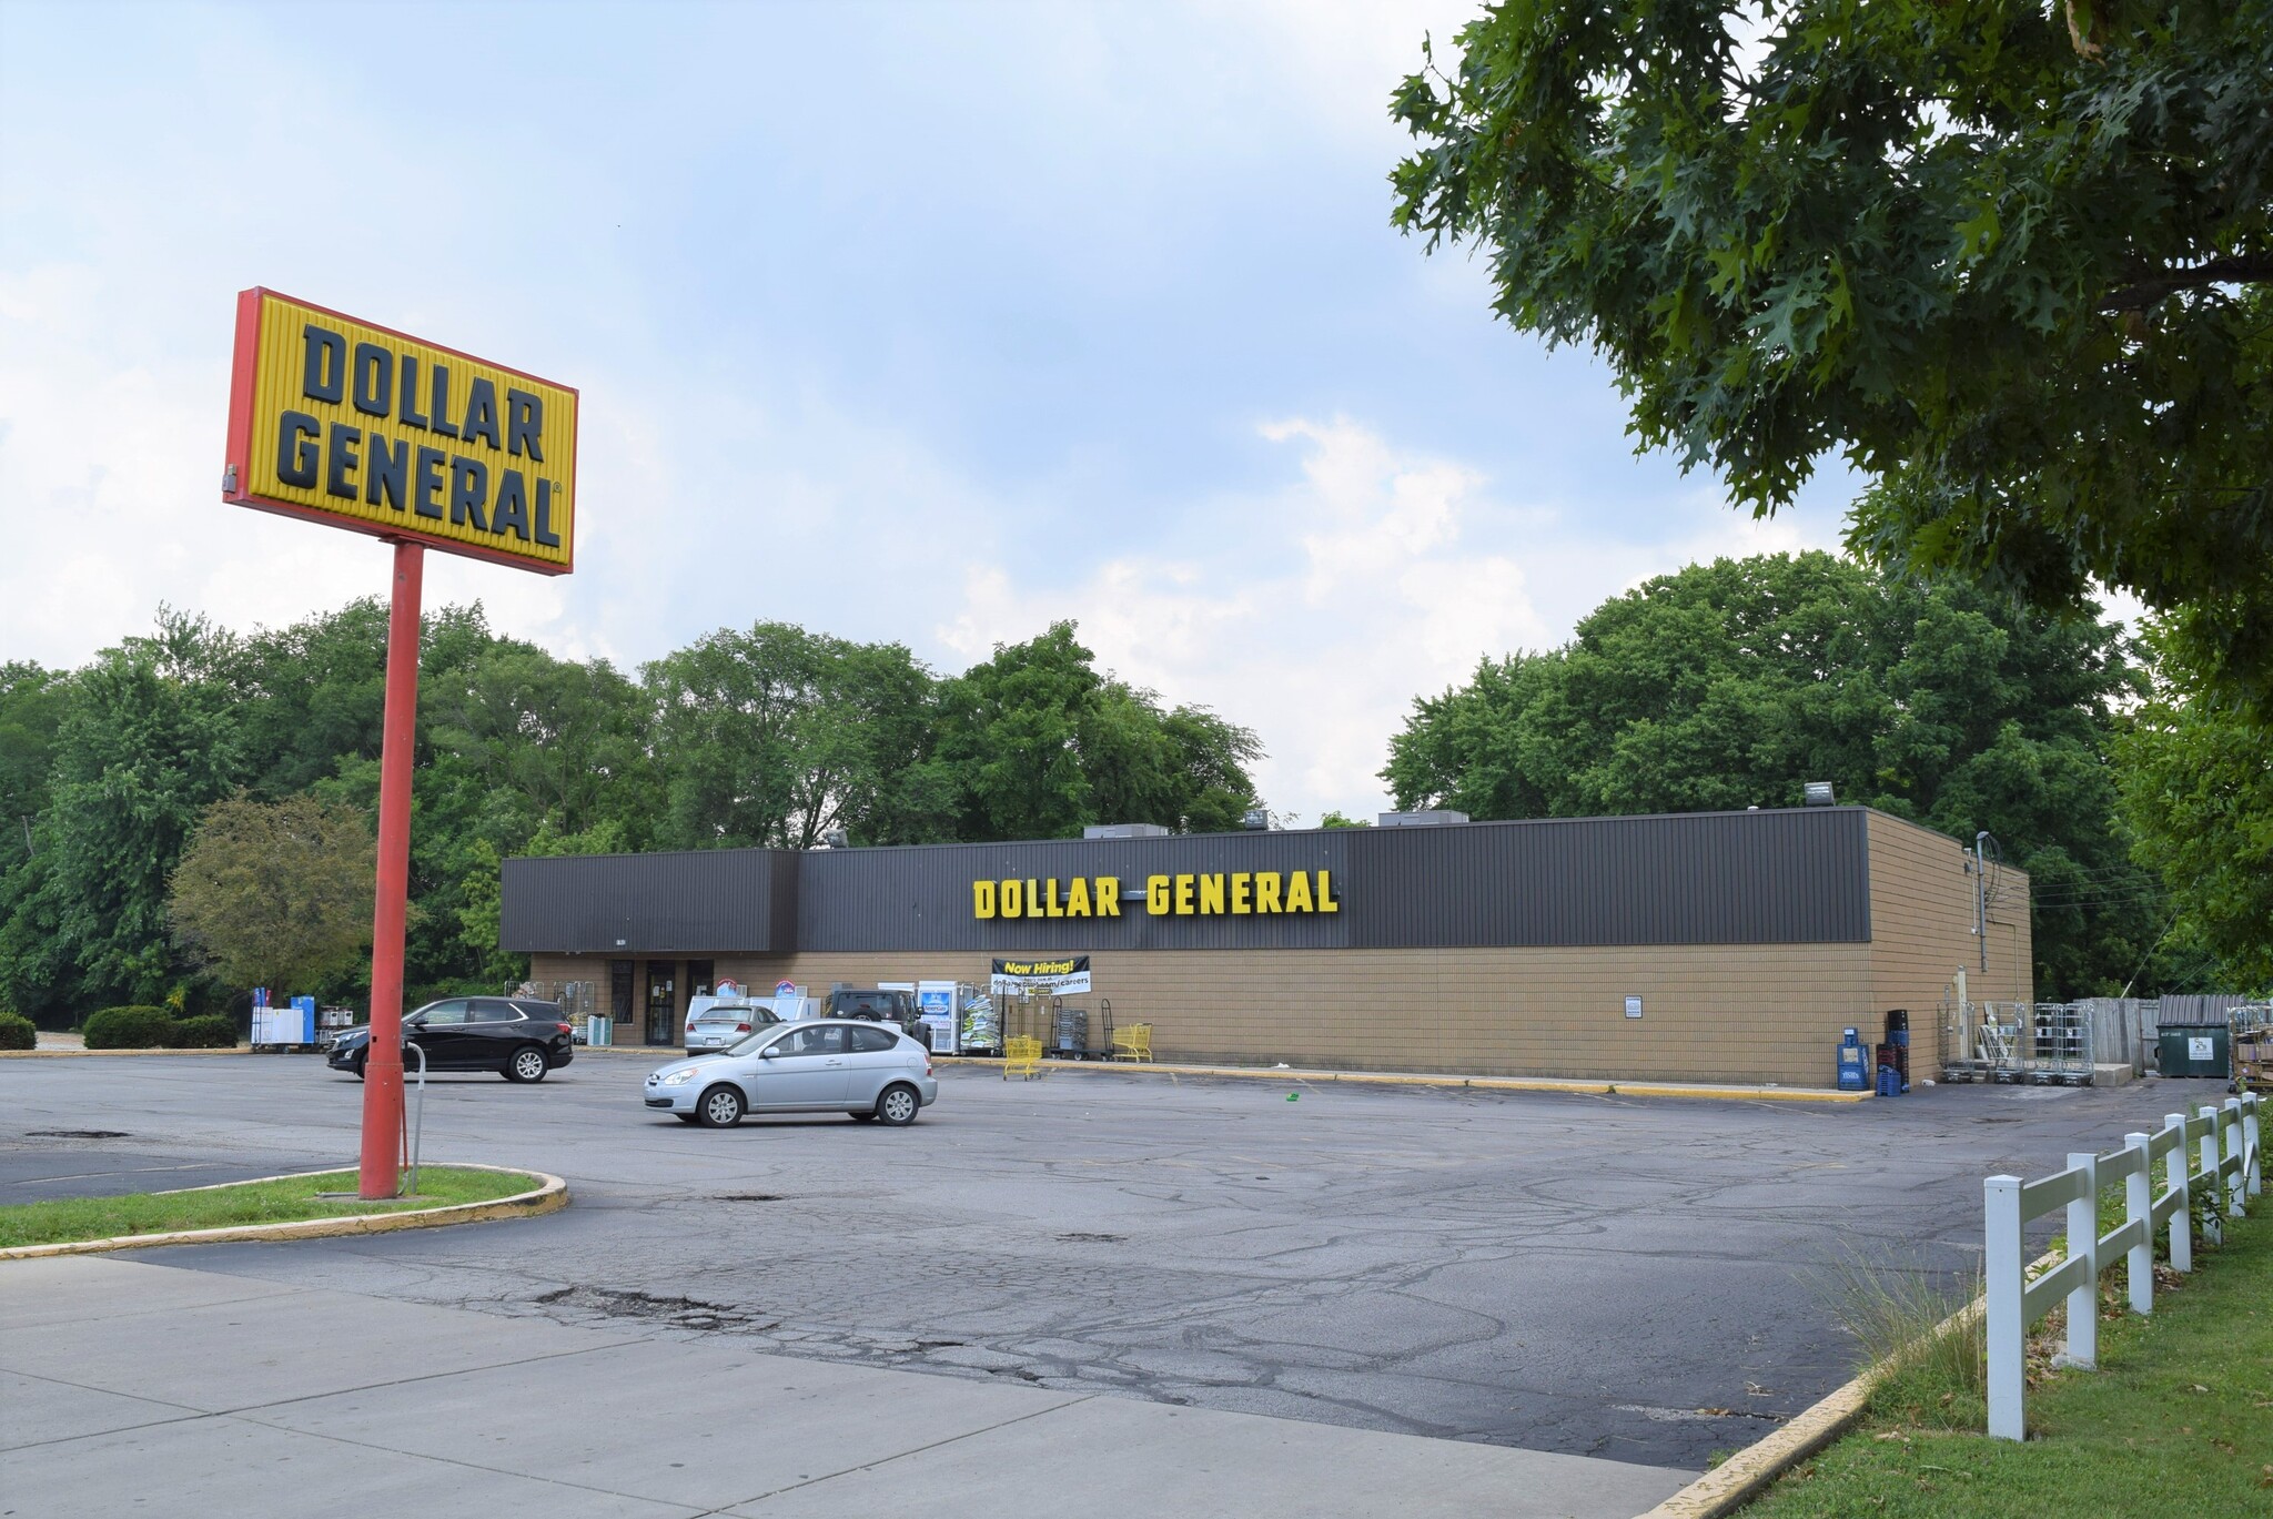
[[[1862,807],[698,850],[505,864],[505,948],[584,953],[1862,944]],[[1330,871],[1337,914],[1150,916],[1146,875]],[[973,880],[1116,875],[1118,919],[975,919]],[[625,944],[618,946],[616,941]]]

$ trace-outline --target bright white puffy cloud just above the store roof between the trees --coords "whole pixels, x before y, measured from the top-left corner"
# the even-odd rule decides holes
[[[971,564],[936,630],[964,659],[1071,616],[1098,662],[1255,728],[1277,810],[1384,805],[1389,734],[1421,691],[1484,653],[1550,641],[1516,555],[1471,541],[1496,512],[1471,468],[1393,448],[1348,421],[1262,428],[1305,448],[1300,482],[1230,498],[1155,553],[1073,582]]]

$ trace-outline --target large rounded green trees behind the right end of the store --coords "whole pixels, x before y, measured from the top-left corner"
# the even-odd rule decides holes
[[[2264,980],[2266,750],[2143,653],[2096,607],[1718,559],[1416,700],[1382,778],[1475,819],[1796,807],[1827,780],[2028,871],[2043,998]]]

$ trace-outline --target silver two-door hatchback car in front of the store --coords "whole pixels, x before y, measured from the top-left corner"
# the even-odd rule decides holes
[[[852,1019],[759,1028],[716,1055],[650,1071],[646,1089],[648,1107],[705,1128],[732,1128],[746,1112],[848,1112],[898,1128],[936,1098],[923,1044]]]

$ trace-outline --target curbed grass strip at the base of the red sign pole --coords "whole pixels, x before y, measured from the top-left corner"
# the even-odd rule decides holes
[[[55,1198],[0,1207],[0,1248],[18,1244],[66,1244],[116,1235],[164,1235],[182,1228],[227,1228],[232,1223],[293,1223],[343,1219],[359,1212],[402,1212],[446,1203],[486,1203],[536,1187],[521,1171],[471,1171],[421,1167],[418,1196],[391,1203],[318,1198],[318,1192],[355,1192],[355,1171],[323,1171],[282,1182],[241,1182],[195,1192],[130,1192],[116,1198]]]

